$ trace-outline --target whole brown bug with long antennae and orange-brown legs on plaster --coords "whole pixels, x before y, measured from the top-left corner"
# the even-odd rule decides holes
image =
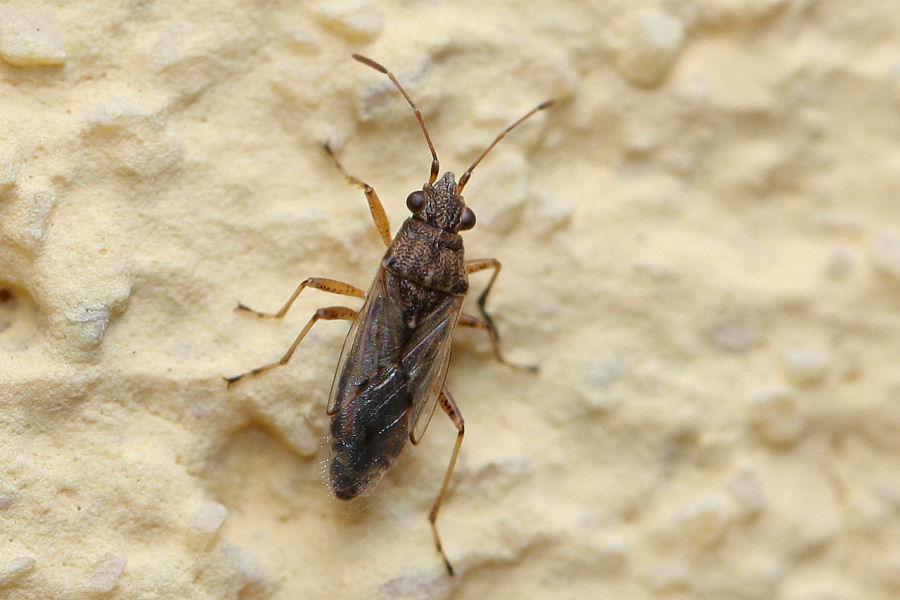
[[[500,132],[466,169],[458,183],[449,171],[437,179],[440,168],[437,153],[422,113],[412,98],[386,68],[365,56],[354,54],[353,58],[387,75],[412,107],[431,151],[428,183],[406,198],[406,206],[413,214],[392,240],[387,215],[375,190],[348,175],[325,144],[326,152],[340,172],[365,192],[375,227],[388,250],[368,293],[349,283],[310,277],[297,286],[277,313],[261,313],[238,304],[238,309],[260,317],[281,318],[307,287],[365,299],[359,311],[344,306],[320,308],[281,360],[230,377],[227,381],[230,386],[246,375],[287,363],[316,321],[353,321],[335,371],[327,409],[331,416],[328,470],[332,490],[338,498],[349,500],[374,486],[399,456],[407,438],[413,444],[419,443],[436,404],[440,404],[456,426],[457,437],[428,520],[438,553],[447,572],[453,575],[453,567],[441,547],[436,520],[465,431],[462,414],[444,385],[456,326],[486,331],[497,359],[509,364],[500,353],[500,336],[484,308],[500,272],[500,262],[493,258],[464,259],[462,237],[458,232],[475,226],[475,213],[465,205],[461,194],[472,170],[487,153],[514,127],[550,106],[552,101],[538,105]],[[461,314],[469,288],[468,274],[486,269],[493,269],[493,274],[478,298],[481,317]],[[534,367],[524,368],[535,370]]]

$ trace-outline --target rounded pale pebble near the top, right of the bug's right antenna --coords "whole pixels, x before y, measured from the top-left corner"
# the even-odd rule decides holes
[[[632,83],[653,86],[675,62],[684,44],[684,25],[664,12],[641,11],[625,28],[619,69]]]

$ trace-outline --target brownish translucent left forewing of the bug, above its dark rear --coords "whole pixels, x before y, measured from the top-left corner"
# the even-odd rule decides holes
[[[370,378],[398,362],[408,328],[403,321],[399,299],[386,283],[387,277],[384,268],[379,268],[366,302],[344,340],[331,384],[329,415],[352,400]]]

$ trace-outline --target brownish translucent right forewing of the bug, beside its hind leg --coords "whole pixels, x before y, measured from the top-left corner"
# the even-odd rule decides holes
[[[414,444],[418,444],[425,435],[444,385],[447,366],[450,364],[453,332],[456,330],[462,302],[462,296],[447,296],[416,327],[405,345],[401,365],[406,372],[412,398],[409,439]]]

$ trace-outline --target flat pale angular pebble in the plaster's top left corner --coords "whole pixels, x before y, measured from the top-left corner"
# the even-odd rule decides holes
[[[3,7],[0,57],[17,67],[65,63],[66,50],[56,15],[40,8]]]

